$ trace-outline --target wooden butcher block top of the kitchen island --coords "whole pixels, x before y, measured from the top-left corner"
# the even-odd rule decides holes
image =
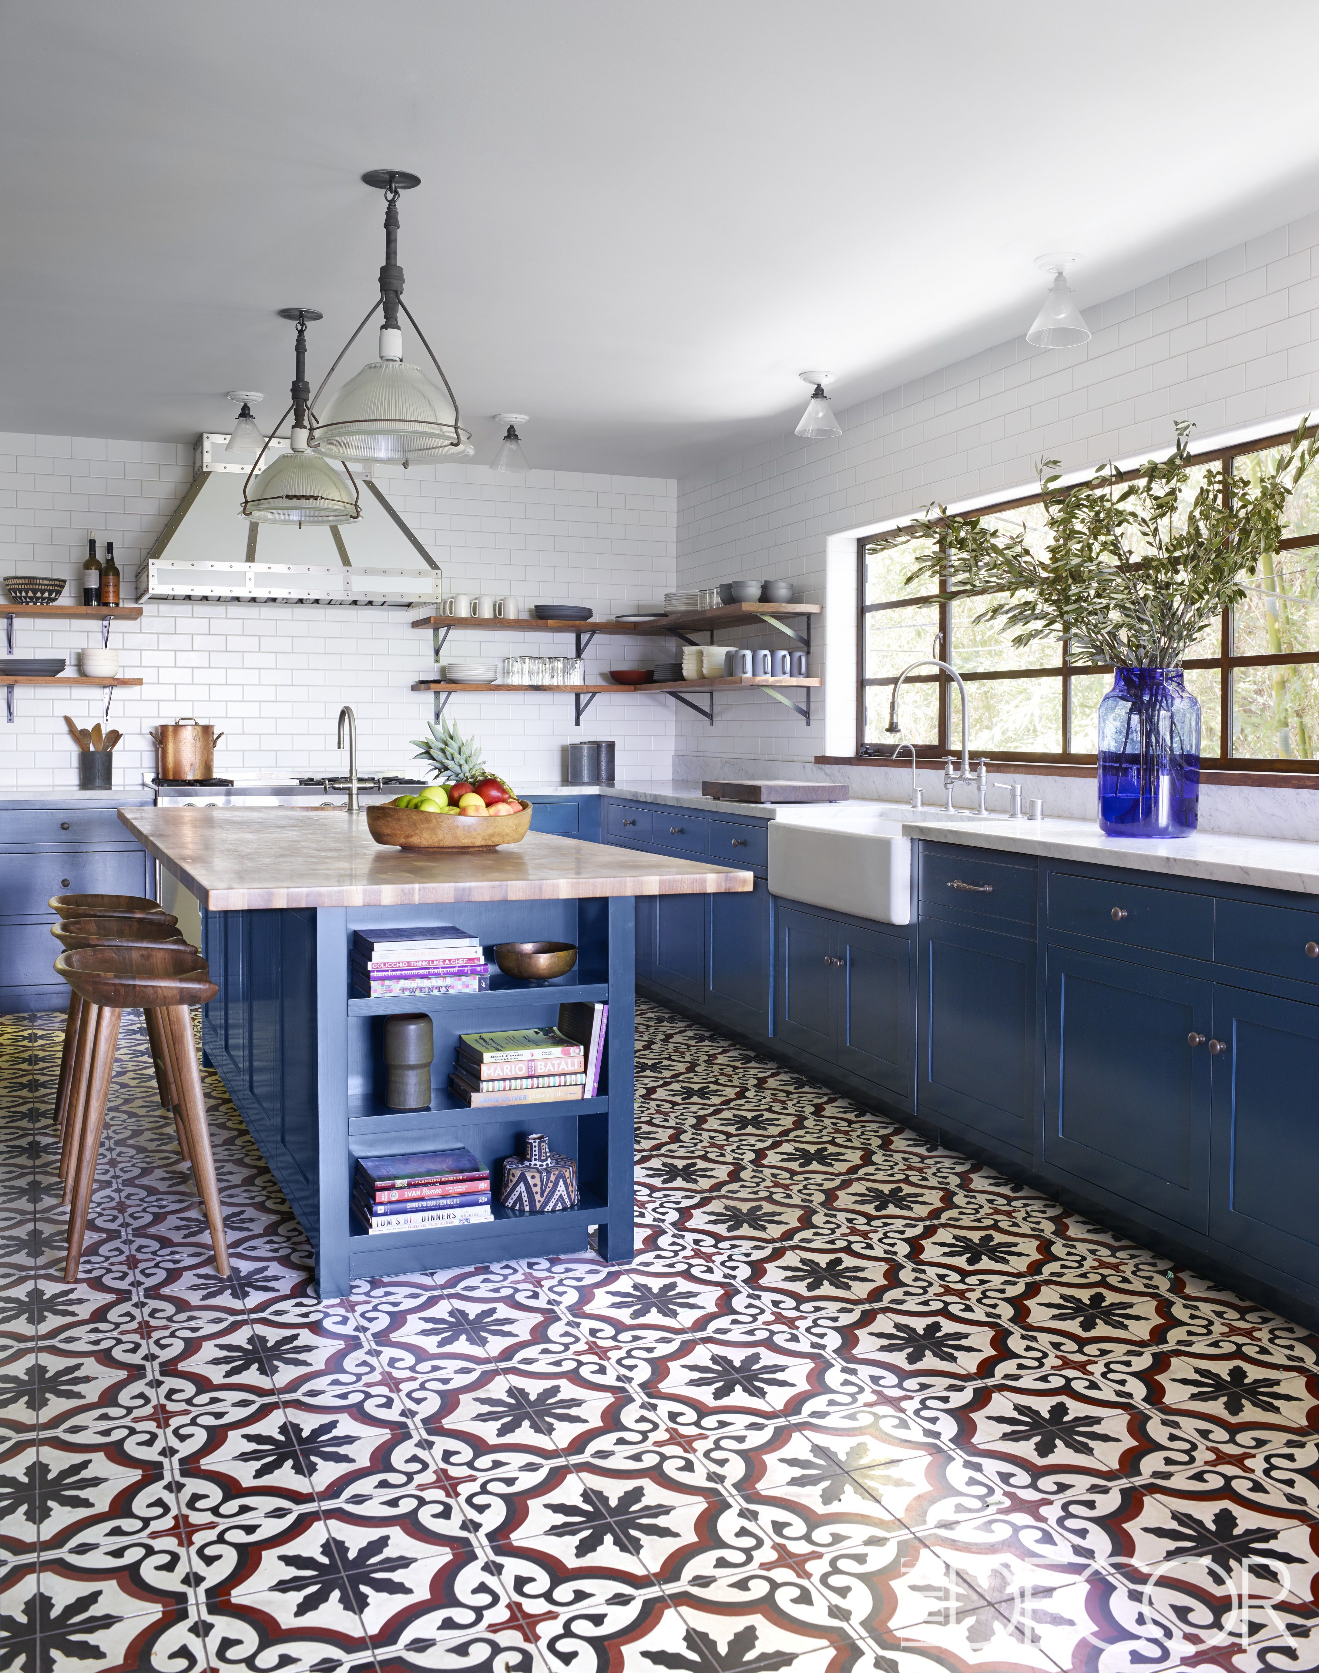
[[[403,853],[373,842],[365,815],[121,808],[119,818],[208,912],[716,895],[755,885],[750,872],[541,831],[504,848]]]

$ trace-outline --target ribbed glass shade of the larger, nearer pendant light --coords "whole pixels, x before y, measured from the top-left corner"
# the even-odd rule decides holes
[[[372,360],[335,395],[310,445],[363,463],[470,458],[470,435],[442,417],[442,400],[420,366]]]

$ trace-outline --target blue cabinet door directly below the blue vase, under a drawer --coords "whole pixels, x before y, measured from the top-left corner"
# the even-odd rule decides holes
[[[1207,980],[1050,947],[1044,1161],[1207,1231],[1212,1014]]]

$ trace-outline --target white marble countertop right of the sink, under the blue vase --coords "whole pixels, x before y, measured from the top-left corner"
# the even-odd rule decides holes
[[[1214,883],[1247,883],[1319,895],[1319,842],[1277,836],[1180,836],[1173,842],[1105,836],[1090,820],[902,820],[904,836],[964,848],[999,848],[1050,860],[1113,865],[1157,877],[1202,877]]]

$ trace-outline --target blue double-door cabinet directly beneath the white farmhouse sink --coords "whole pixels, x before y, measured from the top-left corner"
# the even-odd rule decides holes
[[[911,1104],[911,939],[778,902],[775,1036]]]

